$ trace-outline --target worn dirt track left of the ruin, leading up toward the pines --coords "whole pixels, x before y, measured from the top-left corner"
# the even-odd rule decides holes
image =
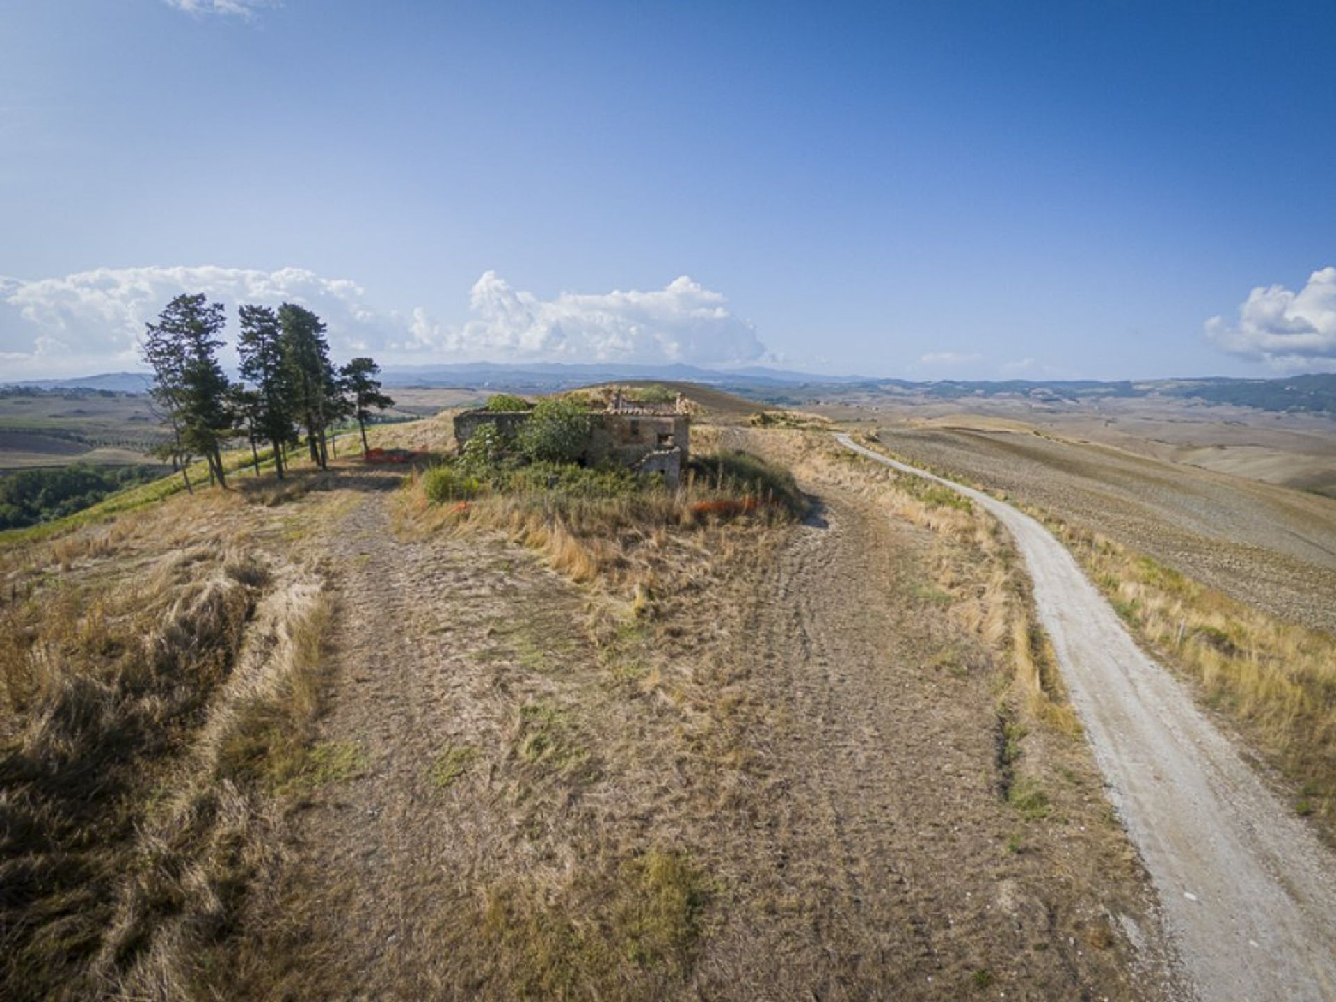
[[[561,578],[500,541],[398,538],[398,482],[365,478],[327,542],[338,612],[317,748],[338,749],[353,770],[305,796],[282,887],[255,923],[278,927],[259,949],[282,955],[277,982],[293,998],[470,994],[448,935],[525,844],[498,774],[532,685],[498,672],[488,652],[526,600],[532,624],[580,616]],[[477,775],[444,788],[432,770],[452,747],[476,755]]]

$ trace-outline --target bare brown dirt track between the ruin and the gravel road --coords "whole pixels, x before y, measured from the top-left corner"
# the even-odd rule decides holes
[[[720,947],[752,955],[732,971],[735,990],[959,998],[987,983],[1022,999],[1165,997],[1154,947],[1086,943],[1106,911],[1156,937],[1133,868],[1081,872],[1089,843],[1005,851],[1017,820],[997,795],[986,655],[974,651],[978,667],[963,673],[925,667],[942,644],[970,643],[908,597],[931,534],[820,486],[823,506],[759,582],[741,631],[768,719],[751,728],[766,810],[737,852],[776,874],[782,906],[754,938]],[[709,995],[716,982],[704,986]]]

